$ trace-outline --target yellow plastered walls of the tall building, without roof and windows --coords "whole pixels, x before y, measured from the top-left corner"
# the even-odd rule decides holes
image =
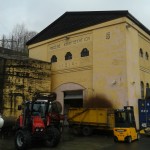
[[[150,81],[150,63],[145,59],[145,53],[150,54],[149,43],[149,35],[123,17],[31,45],[29,52],[39,59],[42,51],[41,59],[48,62],[57,56],[52,63],[52,90],[59,91],[62,104],[65,90],[82,89],[84,101],[103,95],[114,108],[133,105],[138,122],[141,81],[145,87]],[[80,56],[83,48],[89,56]],[[65,60],[67,52],[71,60]]]

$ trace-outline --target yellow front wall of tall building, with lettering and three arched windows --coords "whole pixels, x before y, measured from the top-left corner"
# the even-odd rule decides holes
[[[52,64],[52,89],[73,82],[86,89],[85,99],[104,95],[116,108],[126,105],[125,30],[124,20],[117,19],[55,38],[49,43],[46,41],[46,46],[40,47],[45,54],[47,47],[45,61],[57,56],[57,62]],[[34,53],[37,47],[30,47],[30,57],[39,58],[39,54]],[[89,50],[88,57],[80,56],[83,48]],[[73,58],[66,61],[67,52],[71,52]]]

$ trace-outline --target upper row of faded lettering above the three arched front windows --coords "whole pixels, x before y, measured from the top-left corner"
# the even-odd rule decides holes
[[[57,44],[52,44],[49,46],[49,50],[55,50],[55,49],[59,49],[62,47],[67,47],[67,46],[71,46],[71,45],[76,45],[76,44],[80,44],[83,42],[88,42],[91,40],[90,36],[86,36],[86,37],[80,37],[78,39],[74,39],[74,40],[66,40],[65,42],[59,42]]]

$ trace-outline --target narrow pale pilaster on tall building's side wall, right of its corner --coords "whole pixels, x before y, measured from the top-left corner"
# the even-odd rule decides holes
[[[134,106],[137,127],[139,126],[138,99],[141,97],[139,70],[138,30],[126,24],[127,93],[128,105]]]

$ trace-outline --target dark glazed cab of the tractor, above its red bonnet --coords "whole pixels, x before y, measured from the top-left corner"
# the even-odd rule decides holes
[[[54,114],[59,116],[62,112],[62,105],[60,102],[56,101],[55,93],[36,93],[32,101],[24,102],[18,109],[23,110],[22,117],[25,125],[25,123],[28,122],[28,119],[33,119],[35,116],[39,116],[43,120],[46,120],[48,116],[54,116]],[[54,118],[51,116],[51,119]]]

